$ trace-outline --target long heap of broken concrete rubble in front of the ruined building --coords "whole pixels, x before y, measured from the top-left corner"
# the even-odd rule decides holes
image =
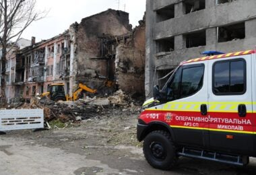
[[[49,98],[34,98],[29,104],[18,105],[18,108],[42,108],[44,109],[44,120],[51,122],[59,120],[61,122],[79,122],[92,117],[104,116],[109,110],[119,109],[127,111],[135,108],[139,111],[141,101],[134,100],[121,90],[112,96],[105,98],[89,98],[76,101],[53,102]]]

